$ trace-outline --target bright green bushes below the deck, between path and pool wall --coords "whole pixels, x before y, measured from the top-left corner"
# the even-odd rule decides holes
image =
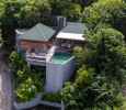
[[[21,54],[12,52],[10,55],[10,66],[14,76],[14,92],[18,101],[28,101],[37,92],[43,91],[43,73],[31,70]]]

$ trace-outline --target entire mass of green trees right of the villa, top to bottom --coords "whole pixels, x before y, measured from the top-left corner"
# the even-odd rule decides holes
[[[124,22],[125,9],[122,0],[99,0],[84,9],[88,43],[84,48],[75,47],[79,69],[75,81],[61,91],[68,110],[122,110],[126,44],[124,35],[113,28]]]

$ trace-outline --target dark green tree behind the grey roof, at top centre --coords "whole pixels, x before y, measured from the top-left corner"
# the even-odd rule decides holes
[[[51,13],[64,15],[70,21],[81,20],[81,3],[75,0],[50,0]]]

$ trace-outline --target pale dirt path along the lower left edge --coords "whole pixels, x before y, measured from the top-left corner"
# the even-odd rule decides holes
[[[0,110],[12,110],[11,74],[0,54]]]

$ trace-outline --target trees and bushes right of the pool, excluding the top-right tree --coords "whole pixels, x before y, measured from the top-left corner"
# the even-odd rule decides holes
[[[62,100],[68,110],[121,110],[126,77],[124,35],[111,26],[99,25],[87,38],[84,48],[75,50],[81,66],[75,81],[65,85]]]

